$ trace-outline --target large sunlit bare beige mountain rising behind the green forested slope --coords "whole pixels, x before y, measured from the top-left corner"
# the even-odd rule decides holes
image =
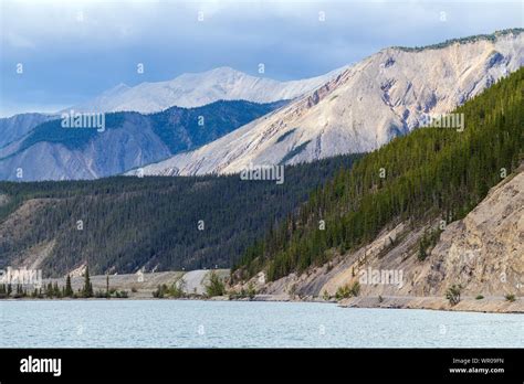
[[[421,126],[427,115],[449,113],[523,65],[523,30],[423,49],[385,49],[286,107],[143,171],[233,173],[250,164],[371,151]]]

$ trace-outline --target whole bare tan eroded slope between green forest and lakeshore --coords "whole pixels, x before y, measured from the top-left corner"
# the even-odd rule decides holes
[[[503,297],[524,292],[524,167],[494,186],[463,220],[447,225],[428,256],[419,241],[439,221],[423,226],[401,223],[385,230],[357,252],[335,255],[328,264],[296,276],[253,281],[275,297],[327,297],[359,281],[359,297],[439,297],[452,285],[462,295]],[[503,299],[502,299],[503,300]]]

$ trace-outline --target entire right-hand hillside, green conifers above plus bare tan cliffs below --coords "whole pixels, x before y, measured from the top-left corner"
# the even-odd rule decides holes
[[[453,110],[463,131],[417,129],[364,157],[254,244],[234,281],[416,308],[449,308],[455,286],[473,300],[457,308],[524,311],[523,90],[520,68]]]

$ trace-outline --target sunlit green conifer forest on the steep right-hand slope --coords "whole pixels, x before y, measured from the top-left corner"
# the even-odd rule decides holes
[[[387,224],[464,217],[522,161],[523,103],[521,68],[457,108],[463,131],[420,128],[366,156],[251,246],[237,276],[266,269],[274,280],[367,244]]]

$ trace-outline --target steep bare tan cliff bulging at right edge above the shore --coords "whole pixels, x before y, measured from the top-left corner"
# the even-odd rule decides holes
[[[441,234],[429,259],[430,294],[461,284],[464,294],[524,292],[524,172],[495,186]]]

